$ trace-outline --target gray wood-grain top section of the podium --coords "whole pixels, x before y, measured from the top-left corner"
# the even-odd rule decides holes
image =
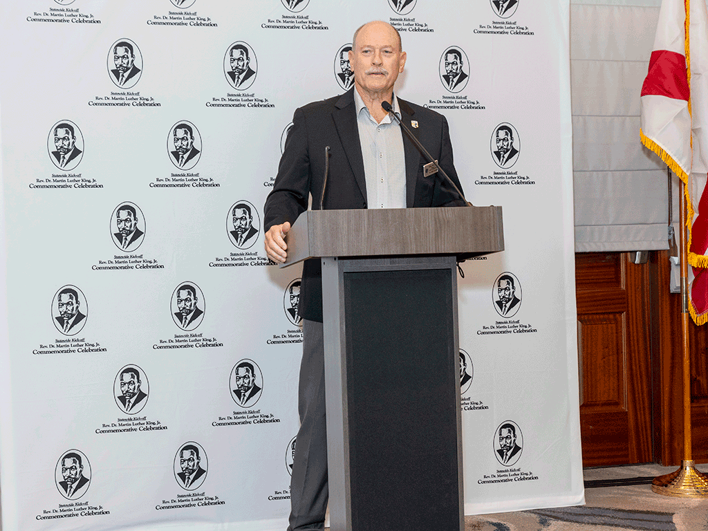
[[[323,256],[479,256],[504,250],[501,207],[308,210],[285,239],[287,267]]]

